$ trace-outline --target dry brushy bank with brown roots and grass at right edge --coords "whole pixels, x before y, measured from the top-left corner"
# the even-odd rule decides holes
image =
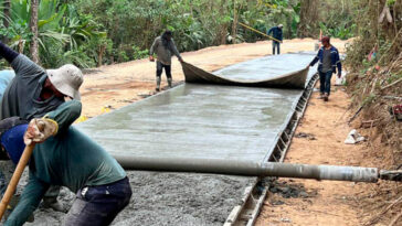
[[[377,120],[377,131],[392,147],[392,164],[402,164],[402,127],[389,108],[401,104],[402,1],[356,1],[356,34],[347,51],[348,88],[362,120]],[[387,12],[387,13],[383,13]],[[383,17],[382,17],[383,15]],[[372,54],[373,53],[373,54]],[[371,56],[371,57],[369,57]]]

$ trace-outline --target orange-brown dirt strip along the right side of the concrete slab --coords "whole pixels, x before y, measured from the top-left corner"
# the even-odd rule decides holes
[[[318,93],[314,93],[285,162],[378,166],[366,158],[364,143],[343,143],[351,128],[346,123],[350,100],[342,88],[332,87],[328,103],[317,97]],[[313,180],[279,180],[279,183],[290,187],[302,185],[307,194],[299,197],[269,194],[256,225],[361,225],[362,209],[357,197],[367,184]]]

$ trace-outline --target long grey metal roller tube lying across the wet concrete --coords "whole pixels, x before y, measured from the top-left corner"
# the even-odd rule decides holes
[[[117,155],[117,161],[126,170],[152,170],[174,172],[219,173],[252,176],[279,176],[334,181],[377,182],[380,173],[377,168],[311,165],[290,163],[255,163],[226,161],[220,159],[191,158],[147,158]]]

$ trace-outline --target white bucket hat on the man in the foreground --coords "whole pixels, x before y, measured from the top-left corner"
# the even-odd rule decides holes
[[[78,67],[66,64],[57,69],[47,69],[46,73],[50,82],[59,92],[73,99],[81,99],[78,89],[84,78]]]

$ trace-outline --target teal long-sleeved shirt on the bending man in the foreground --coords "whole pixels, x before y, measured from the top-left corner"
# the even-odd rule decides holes
[[[35,146],[29,182],[6,226],[23,225],[50,185],[66,186],[76,193],[84,186],[109,184],[126,176],[109,153],[71,126],[81,109],[80,101],[71,100],[46,115],[57,122],[57,134]]]

